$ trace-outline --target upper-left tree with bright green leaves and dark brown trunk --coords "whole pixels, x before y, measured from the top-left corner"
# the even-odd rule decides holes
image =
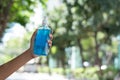
[[[43,7],[48,0],[0,0],[0,42],[8,22],[18,22],[25,26],[38,2]]]

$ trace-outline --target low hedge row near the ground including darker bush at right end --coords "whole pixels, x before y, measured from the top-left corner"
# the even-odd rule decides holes
[[[43,72],[43,73],[57,73],[63,75],[63,69],[62,68],[53,68],[50,69],[49,67],[39,67],[38,72]],[[97,67],[89,67],[89,68],[77,68],[74,70],[70,70],[67,68],[65,70],[66,76],[73,76],[75,79],[80,80],[80,79],[87,79],[87,80],[113,80],[115,75],[117,74],[117,70],[109,66],[106,70],[103,70],[103,75],[100,76],[97,74],[98,68]],[[100,78],[99,78],[100,77]]]

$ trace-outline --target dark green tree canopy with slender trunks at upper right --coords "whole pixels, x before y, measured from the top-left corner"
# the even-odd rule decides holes
[[[120,1],[117,0],[113,1],[112,3],[109,0],[64,0],[64,2],[67,5],[69,13],[68,17],[66,18],[67,22],[69,23],[67,25],[69,26],[69,29],[72,29],[74,21],[78,22],[78,26],[76,25],[76,27],[78,27],[78,34],[77,36],[75,36],[75,38],[78,39],[80,50],[82,51],[82,46],[80,46],[80,40],[82,38],[88,37],[88,34],[92,32],[92,35],[89,36],[93,36],[95,39],[95,61],[96,64],[101,66],[101,60],[98,54],[101,42],[98,40],[98,32],[102,31],[106,33],[105,37],[107,38],[104,38],[104,43],[110,43],[110,36],[120,33],[120,30],[118,30],[119,19],[115,16],[111,17],[112,10],[114,14],[115,12],[119,12],[118,7],[120,6],[118,5],[118,3],[120,3]],[[116,16],[119,16],[119,14],[116,14]]]

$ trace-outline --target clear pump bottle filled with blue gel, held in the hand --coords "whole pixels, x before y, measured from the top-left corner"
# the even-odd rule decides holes
[[[33,52],[37,56],[47,56],[49,52],[49,44],[48,40],[49,34],[51,33],[51,29],[47,25],[47,20],[44,18],[42,22],[42,26],[37,30],[35,39],[34,39],[34,46]]]

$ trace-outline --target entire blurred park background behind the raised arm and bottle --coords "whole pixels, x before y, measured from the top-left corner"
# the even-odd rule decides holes
[[[47,16],[48,56],[7,80],[120,80],[120,0],[0,0],[0,65],[29,48]],[[31,77],[32,76],[32,77]]]

